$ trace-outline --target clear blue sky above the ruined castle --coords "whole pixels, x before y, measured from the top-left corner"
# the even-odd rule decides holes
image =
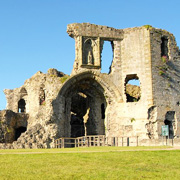
[[[179,45],[179,7],[179,0],[0,0],[0,110],[6,106],[3,89],[22,86],[37,71],[71,73],[75,48],[67,24],[149,24],[173,33]],[[104,51],[105,67],[111,54]]]

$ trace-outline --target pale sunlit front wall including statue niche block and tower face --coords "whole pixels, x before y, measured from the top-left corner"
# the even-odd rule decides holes
[[[83,64],[83,53],[86,52],[84,39],[96,41],[94,46],[97,45],[98,48],[92,52],[98,54],[97,61],[100,65],[104,41],[110,41],[112,44],[113,62],[106,79],[114,84],[122,99],[119,102],[114,101],[113,105],[107,104],[106,134],[111,136],[137,134],[146,137],[148,132],[145,124],[148,123],[148,109],[153,106],[149,30],[145,27],[117,30],[83,23],[69,25],[67,32],[76,43],[76,59],[72,74],[87,71],[89,68],[100,73],[101,66]],[[138,102],[127,102],[125,86],[134,78],[140,82],[141,97]]]

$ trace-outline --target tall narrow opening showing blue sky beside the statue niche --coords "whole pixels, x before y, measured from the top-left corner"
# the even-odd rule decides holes
[[[113,42],[104,41],[101,53],[101,73],[110,73],[111,64],[114,57]]]

